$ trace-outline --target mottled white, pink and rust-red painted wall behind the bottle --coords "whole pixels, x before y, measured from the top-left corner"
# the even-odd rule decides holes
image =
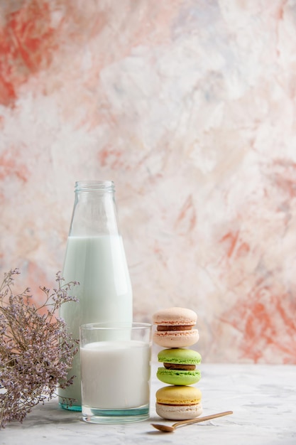
[[[134,318],[204,362],[296,363],[296,1],[1,0],[0,272],[53,286],[111,179]]]

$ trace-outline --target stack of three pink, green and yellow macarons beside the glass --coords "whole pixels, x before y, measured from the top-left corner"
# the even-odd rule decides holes
[[[202,393],[191,386],[200,379],[196,365],[202,360],[197,351],[189,349],[199,340],[196,322],[194,311],[179,307],[153,315],[157,326],[153,341],[165,348],[158,353],[163,367],[158,368],[157,377],[169,385],[156,392],[156,412],[164,419],[194,419],[202,414]]]

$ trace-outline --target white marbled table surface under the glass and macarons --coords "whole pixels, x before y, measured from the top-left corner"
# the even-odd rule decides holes
[[[164,386],[153,363],[150,419],[131,424],[86,424],[81,413],[60,409],[57,399],[39,404],[23,424],[0,431],[1,445],[33,444],[198,444],[295,445],[296,365],[202,364],[203,415],[232,410],[234,414],[160,433],[150,422],[155,414],[155,391]]]

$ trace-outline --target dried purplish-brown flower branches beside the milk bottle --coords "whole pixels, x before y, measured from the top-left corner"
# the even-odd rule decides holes
[[[67,301],[77,301],[69,292],[79,283],[63,284],[57,272],[57,289],[40,287],[45,302],[36,307],[30,289],[11,291],[16,274],[18,269],[4,274],[0,286],[0,429],[12,420],[22,422],[32,407],[56,395],[57,385],[72,384],[67,371],[78,350],[78,340],[56,313]]]

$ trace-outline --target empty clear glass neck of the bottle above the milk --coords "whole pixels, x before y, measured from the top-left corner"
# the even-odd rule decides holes
[[[119,235],[115,189],[112,181],[75,183],[70,236]]]

